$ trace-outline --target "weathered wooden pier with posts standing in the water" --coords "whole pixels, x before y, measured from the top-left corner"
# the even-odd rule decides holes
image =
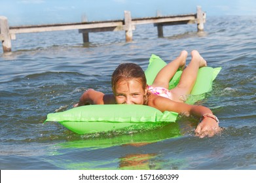
[[[197,30],[203,31],[205,22],[206,13],[202,11],[201,7],[197,7],[195,14],[132,19],[131,12],[124,11],[123,20],[81,22],[74,24],[25,25],[19,27],[9,27],[7,18],[5,16],[0,16],[0,41],[3,45],[3,52],[11,52],[11,40],[15,40],[16,34],[18,33],[39,33],[72,29],[78,29],[79,33],[82,33],[83,42],[89,42],[89,33],[101,31],[125,31],[126,41],[132,41],[132,31],[136,29],[136,25],[154,24],[157,27],[158,37],[163,37],[163,26],[197,24]]]

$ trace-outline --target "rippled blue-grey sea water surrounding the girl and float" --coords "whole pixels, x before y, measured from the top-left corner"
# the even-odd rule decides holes
[[[140,25],[134,41],[123,31],[16,35],[11,53],[0,53],[0,169],[256,169],[256,17],[208,17],[196,24]],[[200,139],[198,121],[150,131],[77,135],[46,115],[72,108],[88,88],[111,92],[119,63],[143,69],[151,54],[165,61],[181,50],[198,50],[211,67],[222,67],[200,105],[211,108],[222,133]],[[191,56],[188,57],[189,63]],[[178,129],[175,131],[174,129]]]

